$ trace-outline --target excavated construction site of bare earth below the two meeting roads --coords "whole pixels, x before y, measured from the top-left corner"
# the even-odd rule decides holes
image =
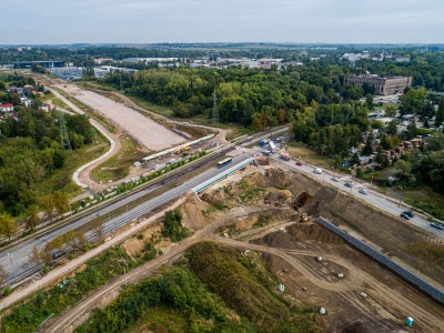
[[[124,251],[135,260],[150,240],[163,253],[140,268],[150,275],[159,272],[162,263],[180,262],[192,244],[216,242],[242,255],[259,254],[289,297],[320,311],[315,321],[324,332],[441,331],[443,304],[320,225],[315,218],[330,219],[443,289],[443,266],[415,250],[417,242],[442,246],[437,239],[279,163],[262,160],[261,164],[245,167],[199,196],[188,194],[174,205],[182,211],[190,238],[179,243],[162,238],[162,219],[158,219],[125,242]],[[140,274],[131,281],[141,279]],[[110,293],[119,286],[113,283],[67,311],[56,324],[70,323],[64,332],[71,332],[89,316],[90,306],[105,307],[118,296]],[[99,305],[92,305],[94,302]],[[82,309],[81,316],[77,309]],[[412,327],[405,324],[407,317],[414,320]]]

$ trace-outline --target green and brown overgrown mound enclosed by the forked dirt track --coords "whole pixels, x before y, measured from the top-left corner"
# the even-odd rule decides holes
[[[77,332],[321,332],[314,309],[279,293],[256,253],[202,242],[159,273],[129,286]]]

